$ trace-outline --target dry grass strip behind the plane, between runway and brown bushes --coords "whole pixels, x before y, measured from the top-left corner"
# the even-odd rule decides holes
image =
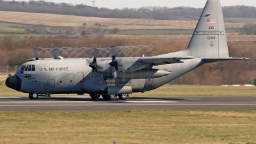
[[[28,93],[21,93],[6,86],[0,86],[0,97],[28,96]],[[175,97],[175,96],[205,96],[205,97],[228,97],[228,96],[255,96],[256,88],[253,87],[223,87],[223,86],[200,86],[200,85],[165,85],[156,90],[145,93],[132,93],[131,97]],[[52,95],[54,96],[77,96]],[[87,94],[84,97],[88,96]]]

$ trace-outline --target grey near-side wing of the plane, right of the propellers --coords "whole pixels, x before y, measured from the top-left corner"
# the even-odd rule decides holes
[[[153,65],[166,65],[172,63],[184,63],[182,60],[193,59],[196,57],[143,57],[140,58],[138,61],[141,63],[152,63]]]

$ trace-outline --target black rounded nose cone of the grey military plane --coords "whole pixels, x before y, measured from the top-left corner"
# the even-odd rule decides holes
[[[8,77],[5,81],[5,85],[13,90],[20,91],[21,88],[21,79],[18,76]]]

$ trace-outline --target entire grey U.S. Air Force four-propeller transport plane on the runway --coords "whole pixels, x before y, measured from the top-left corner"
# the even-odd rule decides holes
[[[90,94],[92,99],[128,99],[129,94],[147,92],[187,72],[230,58],[220,0],[208,0],[188,48],[153,57],[52,58],[29,61],[20,66],[6,86],[29,93],[29,99],[51,94]]]

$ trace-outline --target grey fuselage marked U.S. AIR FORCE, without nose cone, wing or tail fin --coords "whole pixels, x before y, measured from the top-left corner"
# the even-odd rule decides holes
[[[181,51],[180,53],[185,53]],[[174,53],[168,54],[168,56],[176,55]],[[163,56],[166,56],[163,55]],[[138,58],[133,58],[137,60]],[[72,58],[64,60],[38,60],[29,61],[20,66],[15,76],[20,77],[21,85],[20,92],[24,93],[42,93],[42,94],[64,94],[64,93],[77,93],[84,94],[90,93],[84,89],[88,85],[86,82],[90,80],[99,79],[102,74],[95,73],[92,77],[92,68],[88,58]],[[109,60],[111,58],[97,58],[97,61]],[[113,79],[112,72],[104,74],[102,83],[106,83],[108,86],[131,86],[132,92],[147,92],[154,90],[169,83],[173,79],[176,79],[183,74],[186,74],[190,70],[204,64],[200,58],[192,60],[183,60],[184,63],[174,63],[169,65],[152,66],[152,68],[171,72],[163,77],[147,79]],[[35,65],[35,71],[25,71],[26,66]],[[22,70],[22,67],[24,70]],[[111,68],[111,66],[109,66]],[[106,92],[106,91],[105,91]],[[104,92],[99,92],[104,93]],[[107,92],[106,92],[107,93]]]

